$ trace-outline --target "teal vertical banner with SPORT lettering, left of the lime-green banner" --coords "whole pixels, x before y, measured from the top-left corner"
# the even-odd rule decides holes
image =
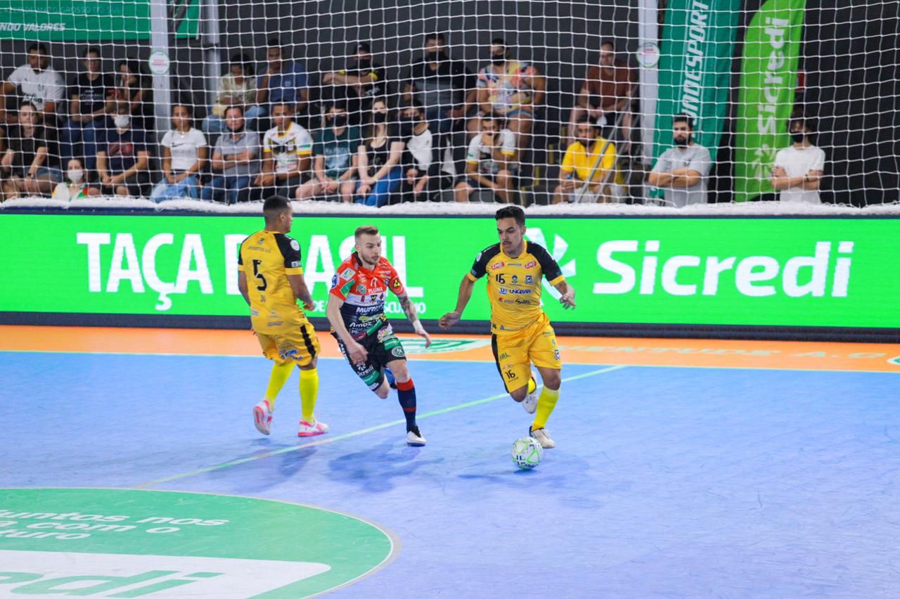
[[[672,117],[686,112],[694,119],[694,139],[716,159],[740,8],[740,0],[669,3],[660,49],[654,156],[671,146]]]

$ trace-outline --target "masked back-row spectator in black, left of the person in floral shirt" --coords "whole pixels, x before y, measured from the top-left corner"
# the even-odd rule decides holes
[[[425,108],[425,120],[435,135],[435,148],[443,158],[446,148],[454,144],[455,131],[464,130],[465,115],[476,103],[478,90],[475,76],[462,60],[447,54],[443,33],[425,37],[425,51],[403,76],[403,100],[415,99]],[[456,160],[455,160],[456,162]]]

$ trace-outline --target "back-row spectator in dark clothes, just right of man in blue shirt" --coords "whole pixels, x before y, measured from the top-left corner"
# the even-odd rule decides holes
[[[331,97],[347,100],[350,123],[365,126],[374,98],[387,94],[387,80],[384,67],[375,62],[372,46],[361,41],[352,51],[354,56],[347,61],[347,66],[326,73],[322,83],[335,86]]]

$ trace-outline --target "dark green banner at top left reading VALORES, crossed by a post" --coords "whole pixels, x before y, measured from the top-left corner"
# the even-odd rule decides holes
[[[151,0],[0,0],[0,40],[149,40]],[[167,0],[170,31],[194,38],[199,0]]]

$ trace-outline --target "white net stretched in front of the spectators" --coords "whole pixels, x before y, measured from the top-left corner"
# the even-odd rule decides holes
[[[4,0],[3,197],[896,202],[852,4]]]

